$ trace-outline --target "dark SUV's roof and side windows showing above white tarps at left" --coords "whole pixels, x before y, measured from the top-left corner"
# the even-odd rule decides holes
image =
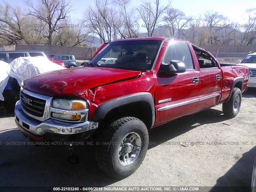
[[[19,57],[36,57],[36,56],[43,56],[47,58],[46,54],[43,51],[34,51],[34,50],[0,51],[0,60],[6,63],[11,63],[14,59]]]

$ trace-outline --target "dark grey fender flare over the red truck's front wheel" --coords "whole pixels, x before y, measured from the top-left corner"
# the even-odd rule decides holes
[[[110,112],[114,108],[117,108],[126,104],[132,104],[134,102],[147,102],[148,104],[150,104],[151,111],[152,111],[152,125],[151,125],[152,127],[155,122],[155,105],[154,105],[154,100],[152,95],[148,92],[130,94],[130,95],[118,97],[100,104],[95,111],[94,122],[98,122],[99,120],[104,119],[106,114],[108,114],[108,112]]]

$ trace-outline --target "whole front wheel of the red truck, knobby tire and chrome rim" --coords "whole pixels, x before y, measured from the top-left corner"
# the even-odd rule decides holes
[[[137,118],[125,117],[102,130],[96,149],[96,160],[106,174],[122,179],[139,168],[147,150],[146,125]]]

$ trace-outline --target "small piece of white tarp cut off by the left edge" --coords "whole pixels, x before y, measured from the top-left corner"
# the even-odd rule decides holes
[[[0,100],[4,100],[4,96],[2,95],[2,93],[4,92],[4,88],[7,85],[7,82],[9,80],[9,76],[7,74],[7,71],[10,70],[10,66],[8,63],[0,61],[0,66],[1,66],[1,70],[0,70]]]

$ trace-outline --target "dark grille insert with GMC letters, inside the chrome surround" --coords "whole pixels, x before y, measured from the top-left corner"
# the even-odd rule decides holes
[[[46,105],[46,100],[42,100],[28,94],[23,91],[20,92],[20,101],[23,109],[29,114],[36,117],[44,116],[44,108]]]

